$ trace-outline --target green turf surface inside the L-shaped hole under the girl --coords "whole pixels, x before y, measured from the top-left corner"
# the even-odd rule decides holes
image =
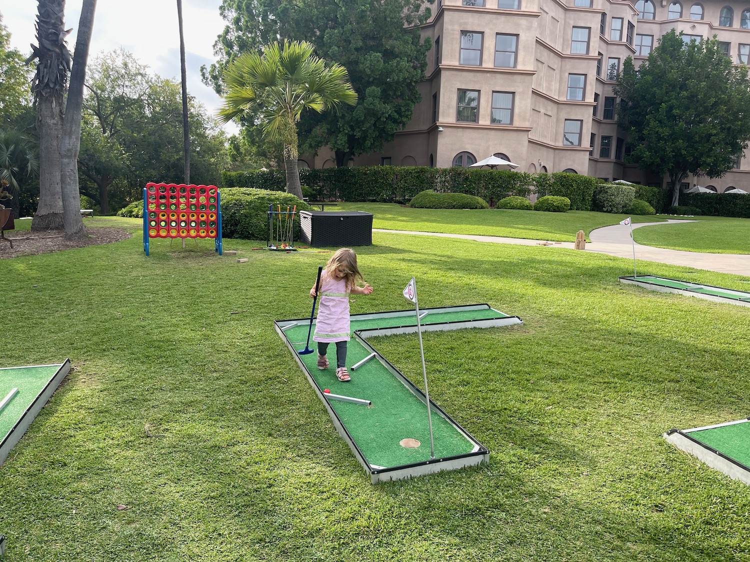
[[[452,312],[424,312],[428,314],[422,318],[423,324],[507,318],[507,315],[489,307]],[[355,317],[351,321],[350,328],[355,331],[414,324],[416,324],[416,312],[404,316],[374,315],[365,319]],[[466,324],[466,327],[470,325]],[[284,333],[299,351],[304,348],[309,331],[308,324],[308,326],[291,327],[284,330]],[[415,334],[404,334],[402,337],[410,337],[413,345],[419,346]],[[310,345],[317,349],[315,342],[311,342]],[[331,407],[367,462],[373,468],[394,468],[430,460],[432,451],[425,402],[405,387],[377,358],[368,361],[356,371],[350,369],[351,381],[346,383],[338,381],[335,376],[335,349],[329,347],[329,353],[331,365],[322,371],[317,368],[317,352],[302,354],[299,357],[321,390],[329,388],[335,394],[372,402],[372,405],[368,407],[329,400]],[[368,349],[365,349],[356,339],[351,339],[348,345],[347,366],[358,363],[368,357],[368,354]],[[413,373],[407,378],[415,383],[422,380],[419,375],[422,373]],[[432,426],[435,458],[463,455],[474,450],[475,444],[452,423],[441,417],[437,411],[432,414]],[[401,447],[400,442],[404,438],[415,438],[420,441],[420,446]]]

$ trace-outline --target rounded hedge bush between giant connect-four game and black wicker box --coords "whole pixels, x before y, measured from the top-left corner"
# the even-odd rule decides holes
[[[269,206],[286,210],[297,205],[295,240],[299,240],[299,211],[310,211],[311,206],[284,191],[254,190],[230,187],[221,193],[221,231],[223,238],[266,240]]]

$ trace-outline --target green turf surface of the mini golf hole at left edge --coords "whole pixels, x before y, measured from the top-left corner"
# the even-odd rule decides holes
[[[18,423],[26,408],[34,402],[60,365],[30,366],[0,369],[0,400],[13,388],[18,393],[0,411],[0,441]]]

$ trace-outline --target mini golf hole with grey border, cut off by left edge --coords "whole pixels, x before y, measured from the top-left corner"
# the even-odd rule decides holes
[[[55,365],[0,368],[0,403],[3,404],[0,409],[0,465],[70,369],[70,360]]]

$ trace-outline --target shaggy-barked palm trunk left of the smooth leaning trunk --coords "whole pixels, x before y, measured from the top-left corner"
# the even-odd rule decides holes
[[[60,186],[60,139],[63,98],[71,70],[71,53],[65,37],[65,0],[39,0],[38,46],[26,62],[38,58],[31,81],[39,129],[39,206],[31,221],[32,230],[62,229],[62,187]],[[80,210],[79,210],[80,211]]]

